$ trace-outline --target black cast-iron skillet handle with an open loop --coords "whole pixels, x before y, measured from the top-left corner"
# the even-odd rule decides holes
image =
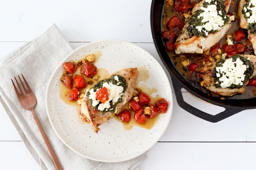
[[[225,106],[224,107],[225,110],[223,112],[220,112],[217,115],[210,115],[186,103],[183,99],[182,92],[181,92],[181,89],[184,88],[183,84],[179,82],[179,80],[172,74],[171,74],[171,80],[172,80],[175,96],[177,99],[177,103],[179,104],[179,106],[184,110],[186,110],[187,112],[199,118],[216,123],[236,113],[246,110],[245,108],[240,108],[240,107]]]

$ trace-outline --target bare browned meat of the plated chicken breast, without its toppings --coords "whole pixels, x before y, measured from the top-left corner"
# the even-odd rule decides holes
[[[127,89],[123,93],[122,100],[120,103],[117,104],[116,106],[116,111],[115,114],[119,114],[121,112],[121,109],[123,106],[133,97],[134,92],[135,92],[135,80],[138,75],[138,70],[137,68],[126,68],[120,71],[117,71],[114,74],[118,74],[125,78],[126,83],[128,84]],[[114,75],[112,74],[112,75]],[[109,79],[112,77],[112,75],[107,76],[105,79]],[[81,104],[81,110],[80,110],[80,118],[82,120],[87,120],[89,123],[94,127],[94,131],[97,133],[100,128],[98,126],[102,125],[103,122],[108,121],[113,113],[112,112],[105,112],[101,113],[99,110],[96,110],[92,105],[90,104],[90,100],[87,97],[87,92],[90,91],[92,87],[87,89],[85,92],[84,98],[82,99],[82,104]]]

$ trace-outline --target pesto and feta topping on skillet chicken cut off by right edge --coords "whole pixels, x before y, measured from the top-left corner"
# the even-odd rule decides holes
[[[250,33],[256,33],[256,0],[246,0],[242,13],[248,22]]]

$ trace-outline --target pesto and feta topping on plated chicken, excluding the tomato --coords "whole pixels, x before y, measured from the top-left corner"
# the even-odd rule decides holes
[[[115,74],[110,79],[102,79],[97,84],[92,86],[92,89],[87,92],[87,97],[90,104],[101,113],[112,112],[115,113],[116,105],[122,101],[122,96],[127,89],[127,82],[122,76]],[[96,92],[102,87],[108,89],[108,100],[103,104],[96,99]]]

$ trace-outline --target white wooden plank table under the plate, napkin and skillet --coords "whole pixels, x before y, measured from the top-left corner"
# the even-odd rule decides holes
[[[55,23],[74,49],[96,40],[125,40],[146,49],[163,66],[151,35],[150,7],[151,0],[2,0],[0,57]],[[217,114],[224,110],[188,92],[182,94],[186,102],[204,112]],[[140,165],[142,170],[256,169],[256,109],[210,123],[180,108],[174,93],[173,96],[171,122],[159,142],[148,151],[148,158]],[[40,169],[2,105],[0,169]]]

